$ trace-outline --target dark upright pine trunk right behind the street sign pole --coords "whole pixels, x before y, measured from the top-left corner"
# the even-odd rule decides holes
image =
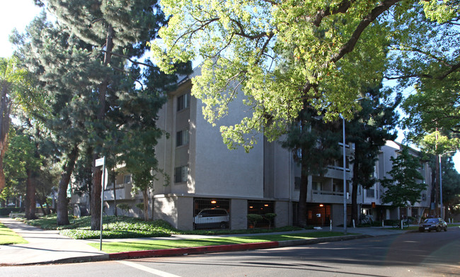
[[[114,30],[112,26],[107,28],[107,38],[105,40],[105,55],[104,55],[104,65],[107,66],[110,64],[112,59],[112,50],[113,50],[113,35]],[[107,87],[109,84],[108,77],[100,84],[99,86],[99,97],[98,105],[99,111],[96,116],[98,123],[103,125],[105,120],[105,93],[107,92]],[[98,131],[99,137],[103,137],[103,130]],[[103,145],[100,145],[102,147]],[[93,154],[93,190],[91,190],[91,230],[100,230],[100,193],[102,192],[102,170],[96,168],[95,161],[98,159],[98,154]]]

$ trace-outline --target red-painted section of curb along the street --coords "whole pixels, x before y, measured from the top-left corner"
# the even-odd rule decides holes
[[[109,259],[132,259],[152,256],[179,256],[185,254],[202,254],[224,251],[244,251],[253,249],[266,249],[278,247],[278,242],[253,242],[246,244],[225,244],[213,245],[209,247],[189,247],[189,248],[173,248],[160,250],[143,250],[143,251],[128,251],[108,254]]]

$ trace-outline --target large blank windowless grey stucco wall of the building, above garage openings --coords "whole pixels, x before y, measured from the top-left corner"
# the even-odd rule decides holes
[[[192,122],[195,129],[191,134],[193,142],[190,137],[190,164],[193,166],[190,178],[195,184],[195,193],[229,198],[262,198],[262,140],[249,153],[241,147],[229,150],[222,142],[219,125],[239,122],[241,113],[236,116],[230,111],[226,118],[219,121],[219,125],[213,127],[203,118],[201,108],[202,103],[197,101],[197,115],[195,122]]]

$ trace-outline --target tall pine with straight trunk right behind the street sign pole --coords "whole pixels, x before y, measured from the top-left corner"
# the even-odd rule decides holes
[[[122,107],[125,94],[133,91],[132,75],[127,62],[141,56],[146,42],[156,37],[164,23],[164,16],[156,1],[48,1],[49,9],[70,33],[93,46],[93,53],[103,55],[102,68],[93,88],[97,98],[91,123],[93,160],[105,154],[110,131],[122,126],[107,120],[114,107]],[[135,20],[133,20],[135,18]],[[134,62],[135,63],[135,62]],[[93,74],[94,75],[94,74]],[[106,132],[109,130],[109,132]],[[91,187],[91,230],[100,229],[100,196],[102,171],[93,164]]]

